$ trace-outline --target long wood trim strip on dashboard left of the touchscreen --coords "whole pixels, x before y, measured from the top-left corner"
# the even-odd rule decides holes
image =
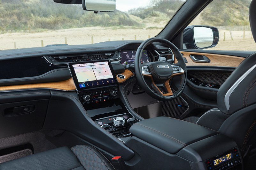
[[[72,90],[75,90],[75,84],[73,79],[70,78],[68,80],[58,81],[58,82],[1,86],[0,90],[35,89],[35,88],[47,88],[47,89],[59,89],[59,90],[72,91]]]

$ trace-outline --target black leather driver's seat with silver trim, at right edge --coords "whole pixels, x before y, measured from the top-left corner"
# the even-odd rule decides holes
[[[256,42],[256,0],[249,7],[249,19]],[[256,148],[256,53],[248,56],[222,84],[217,93],[218,108],[189,121],[233,138],[242,155]]]

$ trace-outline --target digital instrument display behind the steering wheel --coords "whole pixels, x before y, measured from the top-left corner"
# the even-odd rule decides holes
[[[121,51],[120,61],[122,65],[134,64],[135,54],[136,54],[136,50]],[[148,53],[146,50],[143,50],[140,62],[141,63],[149,62]]]

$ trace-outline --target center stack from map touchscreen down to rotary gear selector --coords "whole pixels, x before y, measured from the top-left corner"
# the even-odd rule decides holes
[[[119,83],[109,60],[68,63],[78,97],[99,126],[125,140],[137,122],[119,99]]]

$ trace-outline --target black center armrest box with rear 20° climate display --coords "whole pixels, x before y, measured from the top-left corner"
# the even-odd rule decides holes
[[[138,154],[137,157],[147,158],[134,168],[242,169],[242,158],[236,142],[197,124],[155,117],[135,123],[130,132],[134,136],[125,145]]]

